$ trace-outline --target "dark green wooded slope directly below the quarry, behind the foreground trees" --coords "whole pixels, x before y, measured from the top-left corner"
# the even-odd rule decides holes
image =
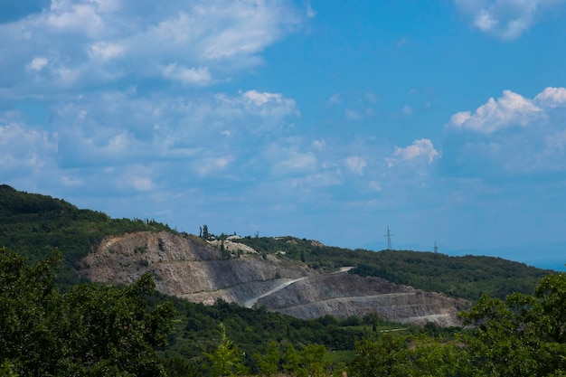
[[[164,296],[152,297],[155,302]],[[325,316],[313,320],[301,320],[262,308],[248,309],[222,300],[213,306],[193,304],[175,297],[168,297],[179,313],[175,333],[169,336],[169,345],[160,353],[165,359],[183,359],[196,365],[203,364],[203,350],[211,352],[222,343],[218,328],[222,325],[226,335],[238,344],[245,356],[242,362],[252,372],[259,372],[255,354],[265,353],[269,344],[276,342],[281,352],[289,345],[302,350],[308,344],[324,345],[328,351],[354,350],[356,339],[400,328],[399,324],[383,320],[377,315],[363,318],[336,319]],[[443,329],[436,325],[426,328],[402,325],[405,334],[445,334],[455,329]]]

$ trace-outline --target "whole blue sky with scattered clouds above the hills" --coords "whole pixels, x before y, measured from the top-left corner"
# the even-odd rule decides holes
[[[198,234],[566,263],[566,0],[0,2],[0,181]]]

